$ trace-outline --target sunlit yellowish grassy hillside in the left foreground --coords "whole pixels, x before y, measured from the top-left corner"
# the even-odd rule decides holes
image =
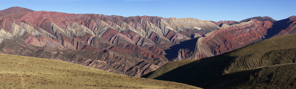
[[[74,63],[0,54],[0,88],[192,88],[129,77]]]

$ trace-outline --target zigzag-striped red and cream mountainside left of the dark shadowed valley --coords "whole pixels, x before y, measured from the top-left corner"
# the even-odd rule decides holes
[[[169,62],[164,50],[170,46],[218,28],[193,18],[33,11],[19,19],[0,20],[0,53],[140,77]]]

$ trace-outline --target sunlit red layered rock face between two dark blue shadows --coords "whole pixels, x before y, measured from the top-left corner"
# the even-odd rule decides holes
[[[219,55],[258,42],[272,25],[269,21],[250,20],[219,28],[198,40],[193,59]]]

